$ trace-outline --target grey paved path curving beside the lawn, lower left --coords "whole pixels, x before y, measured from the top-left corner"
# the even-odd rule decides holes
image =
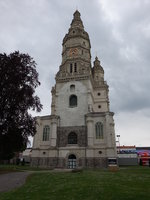
[[[7,192],[20,187],[31,172],[12,172],[0,175],[0,192]]]

